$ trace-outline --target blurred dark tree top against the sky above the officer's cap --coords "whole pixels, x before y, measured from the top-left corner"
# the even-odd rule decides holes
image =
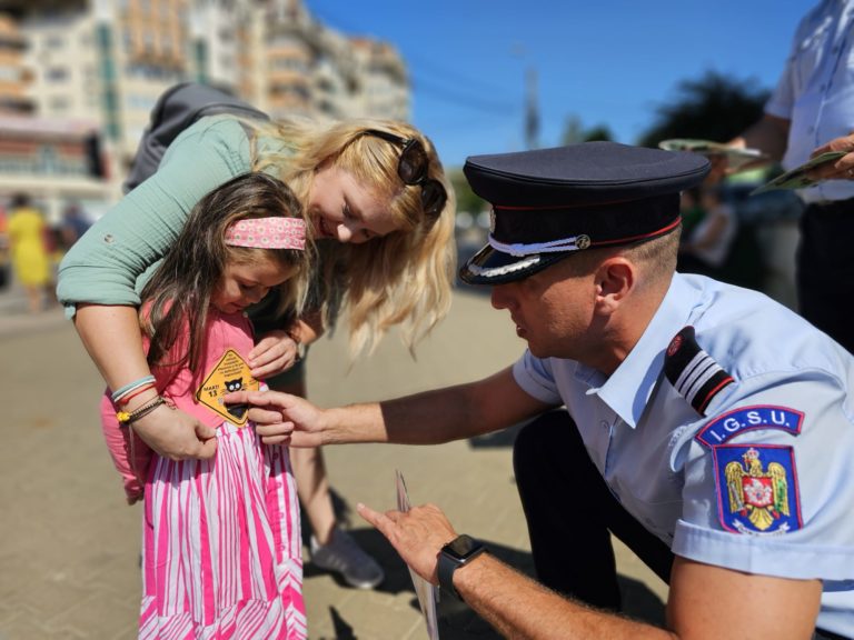
[[[725,142],[762,118],[768,91],[756,80],[737,80],[706,71],[698,80],[683,80],[676,99],[662,104],[653,126],[640,137],[642,147],[656,147],[669,138],[699,138]]]

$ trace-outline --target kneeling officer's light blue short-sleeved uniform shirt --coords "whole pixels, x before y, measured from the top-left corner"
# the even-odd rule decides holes
[[[686,326],[734,379],[705,417],[663,374]],[[676,274],[609,378],[530,352],[514,376],[566,404],[614,494],[676,554],[821,579],[817,626],[854,637],[854,357],[826,334],[761,293]]]

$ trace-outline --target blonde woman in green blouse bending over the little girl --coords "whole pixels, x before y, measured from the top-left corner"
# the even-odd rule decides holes
[[[251,171],[272,174],[294,190],[320,253],[301,318],[278,314],[275,300],[250,311],[259,336],[250,353],[254,377],[270,379],[294,367],[341,312],[354,356],[375,347],[393,326],[401,326],[411,349],[447,312],[455,203],[424,134],[395,121],[207,117],[171,143],[158,171],[108,211],[60,264],[59,300],[110,389],[150,374],[137,321],[139,292],[189,211],[208,191]],[[299,370],[269,383],[305,392]],[[176,419],[160,408],[135,430],[167,458],[216,453],[211,429],[189,414]],[[294,468],[315,533],[315,563],[340,572],[354,587],[381,582],[380,567],[337,526],[320,450],[296,453]]]

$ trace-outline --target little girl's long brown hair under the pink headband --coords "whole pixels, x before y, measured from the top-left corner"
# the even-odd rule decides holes
[[[276,216],[301,218],[302,207],[284,182],[265,173],[238,176],[199,200],[175,244],[142,289],[140,322],[150,338],[149,364],[189,367],[198,373],[211,296],[229,262],[274,260],[285,269],[298,269],[296,276],[308,271],[308,250],[226,244],[226,229],[236,221]],[[294,307],[299,312],[305,290],[301,277],[282,283],[282,307]],[[185,338],[187,327],[189,336]]]

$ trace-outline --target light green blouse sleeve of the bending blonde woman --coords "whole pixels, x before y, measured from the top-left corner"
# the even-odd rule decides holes
[[[183,131],[151,178],[125,196],[68,251],[57,297],[70,318],[80,302],[139,304],[139,292],[172,246],[192,207],[209,191],[250,171],[249,139],[228,116]]]

